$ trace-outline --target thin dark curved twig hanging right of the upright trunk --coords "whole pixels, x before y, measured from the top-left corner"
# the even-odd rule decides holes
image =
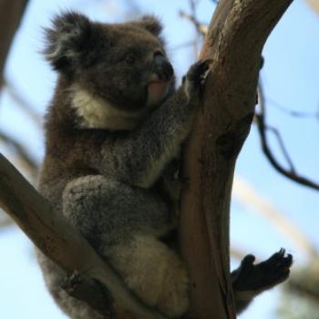
[[[314,182],[313,180],[309,180],[307,178],[304,178],[303,176],[296,173],[296,171],[293,168],[292,160],[290,160],[288,152],[283,147],[283,141],[282,139],[278,139],[279,132],[276,132],[276,137],[278,140],[280,140],[280,146],[283,150],[284,157],[289,160],[288,163],[290,165],[290,169],[284,169],[283,166],[279,163],[278,160],[276,160],[275,156],[273,155],[272,149],[269,147],[268,139],[267,139],[267,130],[269,129],[267,125],[265,124],[265,100],[263,96],[263,90],[262,90],[262,84],[261,81],[258,86],[258,97],[259,97],[259,106],[260,111],[256,113],[256,121],[257,121],[257,127],[259,130],[260,138],[262,141],[262,151],[265,154],[266,158],[270,161],[270,163],[273,165],[273,168],[277,171],[279,171],[283,176],[287,177],[290,180],[293,180],[301,185],[310,187],[314,190],[319,190],[319,184]]]

